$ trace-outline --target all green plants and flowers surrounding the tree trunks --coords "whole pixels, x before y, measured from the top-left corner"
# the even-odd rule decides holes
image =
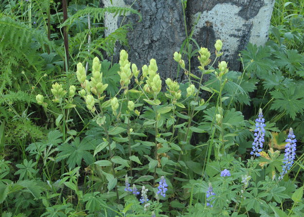
[[[304,216],[302,1],[276,1],[243,72],[220,40],[193,52],[200,77],[172,54],[182,83],[103,58],[128,31],[104,37],[103,14],[138,12],[75,0],[63,22],[58,2],[0,3],[1,216]]]

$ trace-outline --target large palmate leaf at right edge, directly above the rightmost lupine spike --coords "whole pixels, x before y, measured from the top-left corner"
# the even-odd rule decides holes
[[[285,90],[274,90],[270,94],[274,98],[270,109],[285,111],[293,120],[297,113],[303,113],[304,93],[302,87],[291,86]],[[302,90],[301,90],[302,89]]]

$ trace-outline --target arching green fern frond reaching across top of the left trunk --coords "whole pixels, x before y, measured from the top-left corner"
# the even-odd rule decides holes
[[[102,20],[105,13],[111,13],[115,16],[125,16],[127,13],[137,14],[140,19],[139,21],[142,21],[142,15],[132,9],[132,8],[123,8],[123,7],[106,7],[106,8],[95,8],[95,7],[86,7],[83,10],[79,10],[77,13],[72,15],[70,18],[68,18],[64,23],[62,23],[59,27],[63,26],[70,26],[75,19],[78,19],[82,16],[90,15],[91,17],[97,19],[98,21]]]

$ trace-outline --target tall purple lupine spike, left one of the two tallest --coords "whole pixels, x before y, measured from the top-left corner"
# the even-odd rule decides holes
[[[260,156],[259,152],[263,150],[263,143],[265,142],[265,129],[266,125],[264,124],[265,119],[263,118],[262,109],[259,110],[259,118],[255,119],[255,129],[254,129],[254,141],[252,143],[252,151],[251,155],[255,155],[257,157]]]

